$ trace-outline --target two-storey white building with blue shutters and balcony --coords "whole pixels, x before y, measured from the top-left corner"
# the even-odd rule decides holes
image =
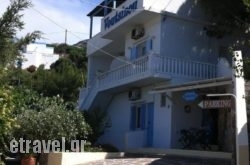
[[[233,109],[199,106],[211,100],[207,93],[232,93],[229,39],[207,36],[210,23],[195,2],[105,0],[89,13],[91,26],[103,18],[101,32],[88,41],[79,108],[107,111],[100,143],[182,148],[183,129],[209,127],[209,144],[232,151]]]

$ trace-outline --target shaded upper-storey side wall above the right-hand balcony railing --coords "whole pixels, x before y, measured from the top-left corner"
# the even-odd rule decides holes
[[[166,16],[161,27],[161,55],[216,64],[218,42],[204,25]]]

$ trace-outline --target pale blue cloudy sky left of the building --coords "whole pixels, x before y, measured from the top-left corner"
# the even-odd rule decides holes
[[[67,44],[75,44],[89,38],[90,19],[87,14],[101,0],[32,0],[33,6],[26,9],[22,20],[24,29],[17,37],[35,30],[42,31],[43,39],[38,42],[64,43],[67,29]],[[10,0],[0,0],[0,15],[6,10]],[[100,19],[94,19],[93,34],[100,31]]]

